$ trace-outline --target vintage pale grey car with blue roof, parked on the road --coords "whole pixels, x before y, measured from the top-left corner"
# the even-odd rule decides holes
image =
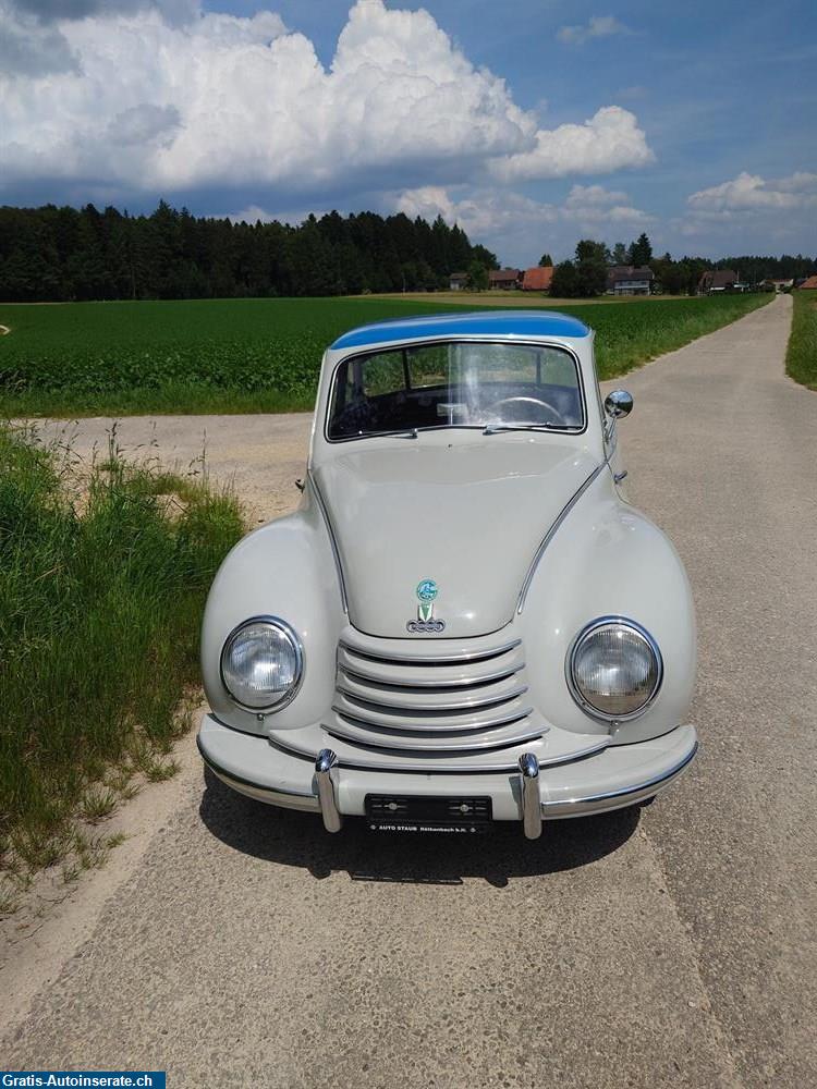
[[[678,779],[695,616],[672,544],[621,492],[632,404],[602,403],[593,332],[556,313],[337,340],[300,509],[210,591],[216,775],[330,832],[520,821],[529,839]]]

